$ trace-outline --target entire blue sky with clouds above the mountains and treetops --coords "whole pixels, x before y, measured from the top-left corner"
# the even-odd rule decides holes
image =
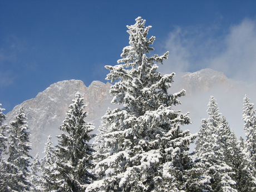
[[[164,72],[222,71],[256,80],[256,1],[0,0],[0,102],[5,112],[52,83],[105,81],[129,45],[126,25],[146,19]]]

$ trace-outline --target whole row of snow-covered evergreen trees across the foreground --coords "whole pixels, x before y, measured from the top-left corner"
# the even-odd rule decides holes
[[[135,21],[127,26],[130,45],[122,58],[105,66],[106,80],[114,83],[112,104],[120,107],[106,111],[99,134],[91,134],[95,127],[85,121],[86,105],[76,93],[58,144],[49,136],[39,159],[29,155],[24,110],[6,125],[0,107],[0,191],[256,191],[254,105],[245,95],[245,140],[237,139],[213,96],[200,131],[181,129],[191,123],[189,114],[172,107],[181,104],[185,90],[169,93],[175,73],[157,72],[169,52],[147,57],[155,37],[147,38],[151,26],[144,19]]]

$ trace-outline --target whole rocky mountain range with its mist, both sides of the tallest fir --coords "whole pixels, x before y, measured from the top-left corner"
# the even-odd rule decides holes
[[[231,129],[239,135],[243,135],[242,107],[245,93],[249,95],[255,90],[255,85],[247,85],[245,82],[237,82],[227,78],[222,72],[211,69],[204,69],[194,73],[180,73],[174,78],[170,93],[186,90],[186,96],[181,98],[182,105],[174,106],[183,113],[190,112],[193,124],[185,126],[191,132],[198,132],[201,118],[207,117],[206,110],[210,95],[216,98],[220,112],[227,118]],[[39,152],[42,157],[43,147],[48,135],[52,135],[53,144],[57,144],[56,135],[62,132],[58,129],[66,117],[66,111],[79,91],[85,98],[87,105],[85,111],[88,115],[87,122],[93,122],[97,132],[101,116],[105,114],[107,107],[111,106],[112,96],[109,93],[111,83],[93,81],[86,87],[80,80],[60,81],[46,88],[45,91],[30,100],[17,105],[11,112],[8,112],[6,123],[13,120],[16,112],[23,107],[28,118],[28,127],[31,132],[32,156]],[[250,97],[250,96],[249,96]]]

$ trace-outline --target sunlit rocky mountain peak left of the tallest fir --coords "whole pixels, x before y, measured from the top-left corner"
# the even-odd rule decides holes
[[[95,121],[105,114],[106,104],[110,104],[110,86],[110,83],[105,84],[100,81],[93,81],[88,87],[80,80],[54,83],[45,91],[38,93],[35,98],[22,102],[8,112],[7,123],[12,121],[23,107],[31,132],[32,156],[38,151],[41,155],[48,135],[55,138],[56,135],[61,134],[58,127],[65,120],[66,111],[75,98],[75,93],[79,91],[85,98],[84,102],[87,105],[85,111],[88,112],[86,121]],[[57,139],[53,139],[53,142],[57,144]]]

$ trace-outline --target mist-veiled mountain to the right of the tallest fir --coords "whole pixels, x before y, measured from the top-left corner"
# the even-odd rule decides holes
[[[173,89],[172,89],[173,88]],[[242,120],[243,98],[245,94],[254,102],[256,84],[235,81],[218,72],[206,68],[193,73],[179,73],[176,75],[170,92],[186,90],[186,96],[181,97],[181,105],[174,109],[190,112],[192,124],[184,127],[195,133],[199,131],[201,119],[208,118],[206,110],[210,96],[213,95],[220,108],[219,112],[229,122],[230,128],[237,137],[245,136]]]

